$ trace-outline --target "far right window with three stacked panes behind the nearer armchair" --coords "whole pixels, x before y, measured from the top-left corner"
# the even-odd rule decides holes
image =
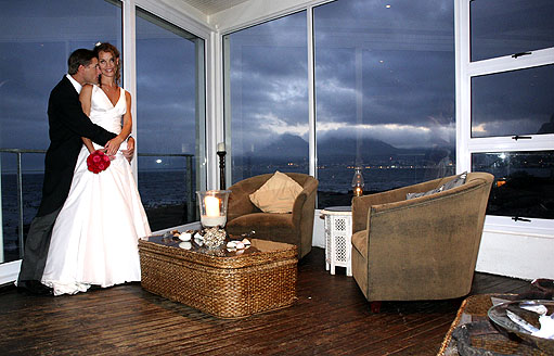
[[[471,106],[471,169],[494,175],[489,221],[532,233],[554,218],[554,2],[463,4],[472,29],[461,78],[471,93],[471,105],[461,103]]]

